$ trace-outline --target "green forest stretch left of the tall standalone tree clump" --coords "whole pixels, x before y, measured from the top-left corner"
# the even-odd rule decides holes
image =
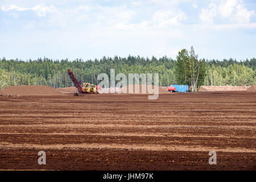
[[[44,57],[38,60],[6,60],[0,59],[0,88],[9,85],[48,85],[53,88],[72,86],[73,83],[67,74],[71,69],[79,82],[91,82],[97,84],[97,76],[107,73],[110,77],[110,69],[115,69],[115,75],[125,73],[159,73],[159,83],[167,86],[174,82],[173,68],[176,64],[166,56],[156,59],[144,59],[139,56],[126,57],[102,57],[102,59],[83,61],[76,59],[52,60]]]

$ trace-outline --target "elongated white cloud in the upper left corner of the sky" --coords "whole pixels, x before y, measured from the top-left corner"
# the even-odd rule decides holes
[[[36,14],[40,17],[46,16],[47,13],[54,13],[56,12],[56,8],[54,6],[46,6],[44,3],[40,3],[39,5],[35,5],[32,8],[28,7],[18,7],[16,5],[10,5],[9,7],[2,6],[1,9],[3,11],[10,11],[10,10],[16,10],[16,11],[27,11],[27,10],[33,10],[36,12]]]

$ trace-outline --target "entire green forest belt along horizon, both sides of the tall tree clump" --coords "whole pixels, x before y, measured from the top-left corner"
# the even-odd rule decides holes
[[[0,59],[0,88],[9,85],[48,85],[53,88],[73,86],[67,70],[71,69],[80,82],[97,84],[97,76],[115,69],[115,74],[159,73],[159,85],[179,84],[177,60],[164,56],[102,57],[98,60],[52,60],[47,57],[37,60]],[[237,61],[205,60],[204,70],[197,86],[200,85],[254,85],[256,84],[256,59]]]

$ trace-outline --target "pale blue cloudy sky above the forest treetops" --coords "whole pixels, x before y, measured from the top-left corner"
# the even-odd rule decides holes
[[[256,57],[255,0],[0,0],[0,57]]]

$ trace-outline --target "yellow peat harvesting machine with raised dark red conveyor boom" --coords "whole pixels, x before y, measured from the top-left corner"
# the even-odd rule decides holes
[[[90,94],[95,94],[98,93],[98,89],[101,89],[100,86],[97,85],[93,85],[90,83],[82,83],[82,86],[79,84],[79,81],[77,81],[74,73],[72,71],[70,71],[68,69],[68,75],[71,78],[73,84],[76,86],[77,91],[80,94],[86,94],[86,93],[90,93]],[[79,93],[75,93],[75,96],[79,96]]]

